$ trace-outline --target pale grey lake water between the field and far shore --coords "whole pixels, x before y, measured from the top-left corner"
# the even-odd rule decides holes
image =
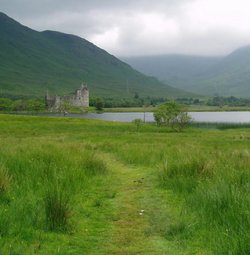
[[[218,122],[218,123],[250,123],[250,112],[190,112],[194,122]],[[48,116],[48,114],[47,114]],[[62,116],[61,114],[51,114],[51,116]],[[67,114],[67,117],[89,118],[109,121],[131,122],[134,119],[142,119],[146,122],[153,122],[152,112],[122,112],[122,113],[86,113]]]

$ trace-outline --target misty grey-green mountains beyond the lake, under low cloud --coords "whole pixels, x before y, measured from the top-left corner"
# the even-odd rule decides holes
[[[122,59],[173,87],[210,96],[250,97],[250,46],[227,56],[171,54]]]

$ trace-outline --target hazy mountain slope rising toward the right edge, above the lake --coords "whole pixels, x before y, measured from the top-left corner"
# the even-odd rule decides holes
[[[250,97],[250,47],[235,50],[194,80],[193,91]]]

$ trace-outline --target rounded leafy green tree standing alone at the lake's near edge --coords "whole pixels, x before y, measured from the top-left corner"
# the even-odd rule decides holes
[[[174,101],[158,106],[154,112],[154,119],[158,126],[167,126],[180,132],[191,121],[191,117],[182,105]]]

